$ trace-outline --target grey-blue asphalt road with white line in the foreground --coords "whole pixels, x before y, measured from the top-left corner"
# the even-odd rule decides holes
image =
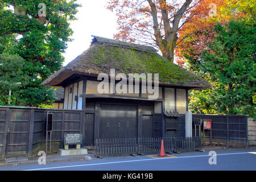
[[[216,151],[216,163],[209,164],[209,152],[184,152],[168,158],[119,156],[104,159],[0,167],[3,171],[171,171],[171,170],[256,170],[256,150]],[[211,160],[213,161],[213,160]]]

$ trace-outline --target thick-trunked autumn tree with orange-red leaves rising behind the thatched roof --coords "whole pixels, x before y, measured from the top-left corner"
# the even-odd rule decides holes
[[[224,1],[110,0],[107,8],[118,16],[115,39],[154,46],[183,66],[188,47],[200,52],[212,40],[215,22],[210,19],[216,19]]]

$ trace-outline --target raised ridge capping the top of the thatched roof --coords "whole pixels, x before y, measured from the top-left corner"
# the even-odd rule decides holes
[[[121,40],[115,40],[115,39],[109,39],[109,38],[102,38],[101,36],[95,36],[92,35],[92,44],[94,43],[106,43],[106,44],[112,44],[112,45],[118,45],[126,48],[135,48],[138,49],[138,51],[146,51],[146,52],[158,52],[154,47],[151,46],[145,46],[141,44],[135,44],[135,43],[129,43],[124,42]]]

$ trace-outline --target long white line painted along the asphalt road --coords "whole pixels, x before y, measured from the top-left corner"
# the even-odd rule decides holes
[[[250,154],[251,152],[239,152],[239,153],[230,153],[230,154],[217,154],[217,155],[237,155],[237,154]],[[162,159],[179,159],[179,158],[200,158],[200,157],[209,157],[210,155],[194,155],[194,156],[179,156],[176,158],[154,158],[154,159],[138,159],[138,160],[124,160],[118,162],[107,162],[107,163],[94,163],[94,164],[81,164],[74,166],[58,166],[58,167],[47,167],[47,168],[35,168],[35,169],[26,169],[22,171],[39,171],[39,170],[47,170],[47,169],[60,169],[60,168],[71,168],[71,167],[84,167],[84,166],[97,166],[104,164],[117,164],[117,163],[131,163],[131,162],[141,162],[147,160],[162,160]]]

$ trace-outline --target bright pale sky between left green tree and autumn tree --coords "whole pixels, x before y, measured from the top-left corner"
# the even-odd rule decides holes
[[[113,39],[113,34],[117,32],[117,16],[106,9],[107,2],[108,0],[77,1],[82,7],[79,7],[79,13],[76,14],[78,20],[71,22],[73,41],[68,43],[64,53],[64,66],[89,48],[91,35]]]

